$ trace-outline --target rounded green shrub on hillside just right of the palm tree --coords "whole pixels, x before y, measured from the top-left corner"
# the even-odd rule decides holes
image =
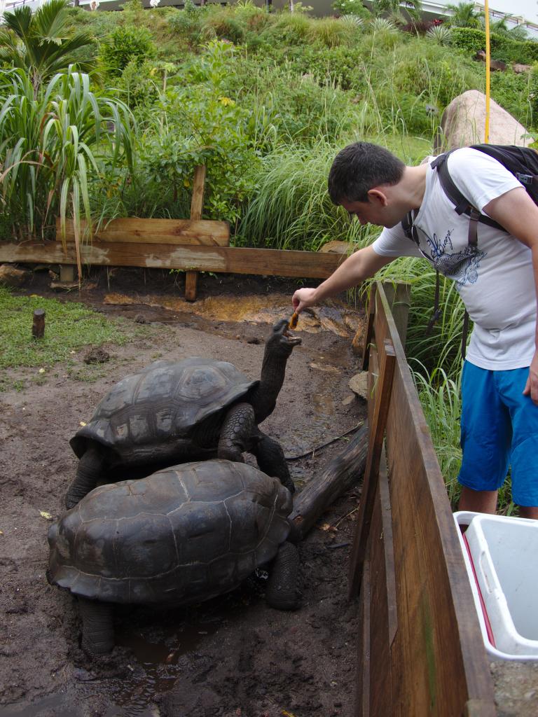
[[[121,75],[129,62],[141,65],[155,55],[151,32],[145,27],[117,27],[100,47],[100,58],[110,77]]]

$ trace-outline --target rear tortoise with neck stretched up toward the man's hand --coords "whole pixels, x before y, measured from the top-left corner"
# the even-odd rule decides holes
[[[70,441],[80,459],[65,498],[72,508],[99,482],[118,470],[138,477],[189,460],[219,457],[242,462],[242,452],[258,460],[292,492],[293,481],[280,444],[258,424],[275,408],[285,365],[301,339],[288,321],[273,326],[265,343],[260,381],[251,381],[227,361],[194,357],[156,361],[115,384],[93,417]]]

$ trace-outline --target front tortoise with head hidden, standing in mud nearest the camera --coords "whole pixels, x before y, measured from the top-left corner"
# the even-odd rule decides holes
[[[227,460],[102,485],[49,528],[47,576],[79,599],[82,647],[91,655],[113,649],[113,603],[201,602],[270,561],[268,604],[296,609],[291,509],[278,478]]]

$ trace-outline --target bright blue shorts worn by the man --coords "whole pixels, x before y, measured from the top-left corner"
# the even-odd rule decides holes
[[[458,481],[497,490],[511,467],[512,500],[538,505],[538,406],[523,395],[529,369],[490,371],[463,365]]]

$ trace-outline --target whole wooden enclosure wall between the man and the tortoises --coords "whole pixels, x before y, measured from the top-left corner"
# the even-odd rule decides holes
[[[379,391],[383,375],[391,374],[390,357],[395,361],[384,407],[385,450],[365,473],[365,508],[359,511],[351,554],[351,594],[360,587],[357,715],[495,715],[450,503],[379,284],[372,344],[369,421],[378,436]]]

